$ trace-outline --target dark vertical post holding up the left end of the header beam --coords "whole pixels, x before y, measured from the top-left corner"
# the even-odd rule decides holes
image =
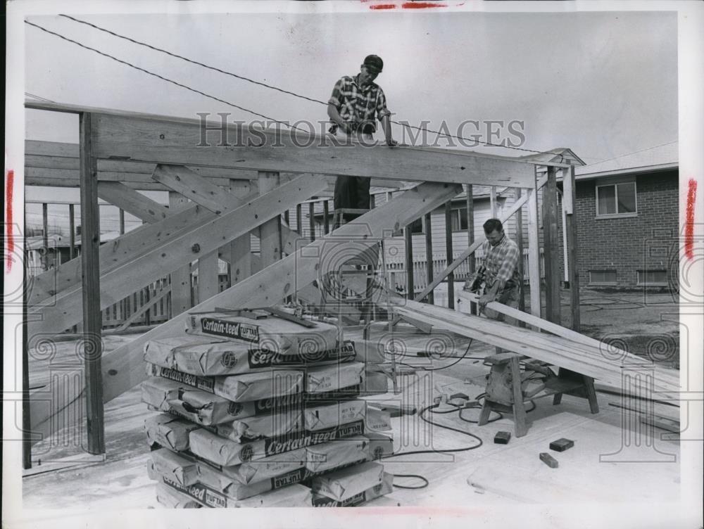
[[[100,212],[98,165],[93,156],[92,115],[80,114],[81,265],[88,452],[105,453],[103,374],[101,370]]]

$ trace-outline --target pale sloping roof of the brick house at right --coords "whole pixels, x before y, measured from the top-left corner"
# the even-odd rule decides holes
[[[679,165],[679,142],[671,141],[650,148],[628,153],[608,160],[601,160],[574,170],[578,180],[611,177],[636,172],[654,172],[677,169]]]

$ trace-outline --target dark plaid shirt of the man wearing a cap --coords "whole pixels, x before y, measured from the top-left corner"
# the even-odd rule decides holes
[[[365,87],[357,84],[357,77],[348,75],[339,79],[332,89],[329,104],[334,105],[340,117],[354,129],[360,125],[369,124],[376,131],[375,114],[379,121],[382,117],[391,115],[386,108],[386,96],[378,84],[370,83]],[[337,123],[333,123],[329,132],[337,132]]]

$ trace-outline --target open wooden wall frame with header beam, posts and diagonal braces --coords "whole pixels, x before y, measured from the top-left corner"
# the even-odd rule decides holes
[[[362,253],[380,238],[449,204],[463,186],[470,213],[473,185],[525,191],[518,194],[502,219],[527,205],[529,248],[535,257],[529,260],[530,310],[535,316],[541,315],[537,193],[543,184],[547,185],[549,192],[543,199],[548,204],[543,222],[550,227],[546,262],[551,262],[548,252],[555,246],[552,237],[557,212],[553,199],[555,204],[557,199],[552,193],[557,169],[565,171],[574,193],[574,170],[569,164],[555,161],[550,153],[509,158],[438,148],[369,148],[340,145],[329,136],[213,125],[179,117],[34,101],[25,103],[25,107],[80,117],[77,147],[26,142],[25,184],[80,187],[83,240],[80,259],[63,264],[58,274],[34,278],[27,298],[27,338],[31,343],[34,335],[60,333],[80,323],[83,314],[84,343],[90,352],[84,357],[84,388],[40,388],[32,393],[32,400],[46,400],[46,395],[56,392],[65,395],[65,400],[51,401],[49,407],[31,407],[33,433],[49,433],[56,418],[67,414],[70,406],[80,404],[84,396],[89,452],[105,451],[103,402],[142,381],[141,351],[146,341],[182,329],[187,318],[184,311],[191,308],[186,293],[188,287],[189,295],[190,285],[184,278],[189,276],[192,262],[197,261],[199,267],[200,302],[194,310],[237,306],[242,300],[249,306],[273,305],[318,279],[320,255],[334,248],[335,243],[353,238],[354,251]],[[537,181],[536,167],[546,165],[547,177]],[[301,203],[329,193],[337,175],[370,177],[372,185],[390,189],[408,181],[417,185],[332,234],[313,241],[301,238],[285,219],[282,222],[282,214],[297,205],[300,227]],[[137,190],[169,191],[170,207]],[[491,196],[496,196],[495,188]],[[144,225],[99,246],[99,197],[136,215]],[[571,218],[572,209],[568,213]],[[327,216],[325,219],[327,222]],[[473,240],[473,218],[468,220],[469,247],[434,277],[429,270],[429,285],[415,296],[417,300],[432,300],[434,288],[451,277],[453,270],[481,245],[482,241]],[[449,215],[446,222],[450,222]],[[360,226],[365,228],[362,233]],[[260,237],[258,258],[249,248],[253,231]],[[571,274],[576,273],[576,252],[573,241],[569,253]],[[218,256],[229,262],[232,270],[232,286],[220,293],[217,273],[213,274]],[[103,354],[100,310],[165,273],[171,275],[172,319],[128,345]],[[408,280],[412,278],[408,274]],[[570,284],[577,286],[576,276]],[[548,279],[547,274],[546,288],[548,302],[559,296],[559,283]],[[413,293],[413,288],[408,292]],[[573,291],[572,298],[573,312],[577,313],[579,294]],[[556,307],[554,302],[548,305],[548,316],[556,314],[559,302]],[[557,318],[559,322],[559,315]]]

